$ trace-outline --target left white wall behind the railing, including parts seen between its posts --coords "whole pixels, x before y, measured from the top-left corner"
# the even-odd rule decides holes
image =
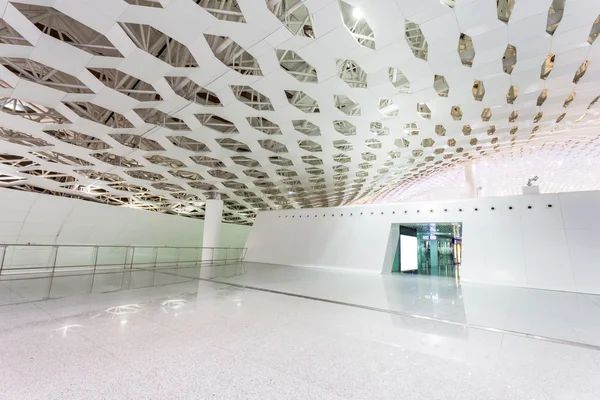
[[[204,221],[127,207],[86,202],[66,197],[0,189],[0,243],[154,245],[200,247]],[[244,247],[249,226],[222,224],[220,247]],[[10,247],[3,263],[11,268],[52,265],[51,247]],[[235,252],[232,254],[235,256]],[[57,265],[93,264],[91,247],[61,247]],[[136,263],[194,261],[194,249],[137,248]],[[217,255],[218,256],[218,255]],[[101,248],[97,263],[131,260],[126,248]],[[129,260],[129,261],[127,261]]]

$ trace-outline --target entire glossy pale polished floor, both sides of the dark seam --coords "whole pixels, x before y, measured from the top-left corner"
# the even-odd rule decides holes
[[[598,296],[245,267],[21,304],[35,289],[4,285],[0,399],[600,398]]]

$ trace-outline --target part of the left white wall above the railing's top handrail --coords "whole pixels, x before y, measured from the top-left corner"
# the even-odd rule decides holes
[[[66,197],[0,189],[0,243],[202,246],[204,221]],[[223,247],[250,227],[223,224]]]

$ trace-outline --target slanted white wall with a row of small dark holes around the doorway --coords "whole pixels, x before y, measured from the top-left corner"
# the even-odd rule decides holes
[[[266,211],[246,260],[381,273],[391,225],[430,222],[463,223],[465,281],[600,293],[598,191]]]

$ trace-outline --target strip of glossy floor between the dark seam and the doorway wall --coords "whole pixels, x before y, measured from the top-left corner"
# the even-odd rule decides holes
[[[600,346],[600,296],[419,275],[247,265],[220,282]]]

